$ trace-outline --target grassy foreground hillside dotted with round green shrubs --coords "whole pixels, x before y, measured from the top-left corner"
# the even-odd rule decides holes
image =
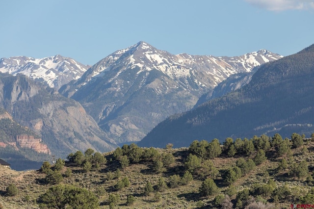
[[[194,141],[180,149],[135,144],[105,154],[89,149],[63,163],[26,172],[0,167],[0,208],[49,208],[43,194],[67,187],[85,189],[86,199],[94,198],[101,209],[290,208],[313,204],[314,198],[314,141],[298,134],[291,140],[278,134],[228,138],[224,145]],[[14,196],[8,196],[10,184],[18,189]]]

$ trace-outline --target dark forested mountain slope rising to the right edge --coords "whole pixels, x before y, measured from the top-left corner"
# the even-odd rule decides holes
[[[192,111],[169,117],[140,146],[189,146],[195,140],[314,132],[314,45],[266,63],[250,82]]]

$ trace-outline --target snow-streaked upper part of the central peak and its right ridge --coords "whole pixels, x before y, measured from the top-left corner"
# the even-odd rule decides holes
[[[135,70],[136,75],[159,70],[171,79],[178,80],[181,86],[190,85],[191,80],[199,86],[214,87],[232,74],[250,72],[265,62],[281,58],[279,54],[267,50],[246,53],[234,57],[215,57],[211,55],[171,54],[157,50],[140,41],[124,50],[116,51],[89,69],[79,81],[85,85],[93,77],[102,77],[108,71],[116,73],[117,78],[126,70]],[[180,81],[179,81],[180,80]]]

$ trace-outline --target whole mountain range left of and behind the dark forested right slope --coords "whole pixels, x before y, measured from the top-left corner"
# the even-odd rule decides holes
[[[110,151],[117,143],[141,140],[167,117],[218,96],[216,86],[222,81],[229,82],[225,94],[247,83],[264,63],[280,58],[267,50],[235,57],[174,55],[145,42],[93,66],[61,55],[2,58],[0,72],[6,74],[0,74],[0,107],[21,126],[20,132],[23,127],[33,132],[6,133],[10,137],[1,144],[27,160],[50,154],[64,158],[87,148]],[[242,80],[241,75],[249,76]],[[19,147],[22,139],[36,146]],[[31,154],[21,153],[23,149]]]

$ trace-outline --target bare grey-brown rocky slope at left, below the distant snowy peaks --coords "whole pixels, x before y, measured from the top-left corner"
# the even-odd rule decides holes
[[[21,74],[0,74],[0,107],[34,131],[57,157],[75,150],[105,152],[116,147],[78,102]],[[27,137],[16,138],[23,143]]]

